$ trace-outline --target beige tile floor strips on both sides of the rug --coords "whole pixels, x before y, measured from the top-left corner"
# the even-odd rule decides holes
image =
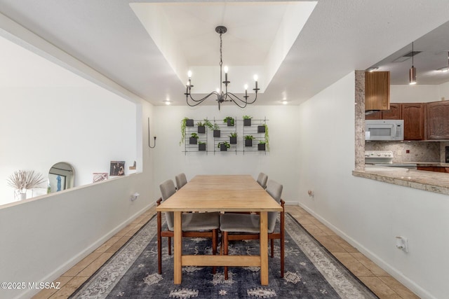
[[[413,292],[408,290],[399,281],[391,277],[387,272],[371,260],[363,256],[353,246],[348,244],[344,239],[335,235],[335,233],[316,220],[307,211],[297,206],[286,206],[286,212],[296,218],[298,222],[306,228],[311,235],[323,244],[340,262],[345,265],[358,279],[363,281],[379,298],[419,298]],[[59,290],[47,289],[43,290],[34,299],[43,298],[67,298],[74,293],[81,284],[84,283],[96,270],[98,270],[105,261],[107,261],[117,250],[125,244],[142,225],[147,223],[156,213],[155,207],[152,207],[140,217],[135,219],[118,232],[114,237],[102,244],[98,249],[90,255],[83,258],[79,263],[74,265],[70,270],[65,272],[55,281],[60,282]]]

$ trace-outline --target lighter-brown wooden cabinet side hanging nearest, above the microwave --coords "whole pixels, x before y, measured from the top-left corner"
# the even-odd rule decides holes
[[[390,72],[365,72],[365,111],[388,110],[390,106]]]

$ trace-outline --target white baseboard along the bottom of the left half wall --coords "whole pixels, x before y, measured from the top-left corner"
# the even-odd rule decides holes
[[[115,228],[110,230],[106,235],[104,235],[103,237],[101,237],[100,239],[95,241],[93,244],[88,246],[86,249],[84,249],[83,251],[78,253],[76,256],[74,256],[73,258],[68,260],[66,263],[60,265],[60,267],[58,267],[53,272],[51,272],[50,274],[46,275],[46,277],[43,277],[39,281],[51,282],[51,281],[55,281],[55,279],[58,279],[58,277],[60,277],[62,274],[67,272],[67,270],[69,270],[74,265],[79,263],[79,261],[81,261],[83,258],[86,258],[86,256],[88,256],[93,251],[95,251],[95,249],[98,249],[98,247],[100,247],[108,239],[110,239],[111,237],[114,237],[114,235],[117,232],[119,232],[120,230],[125,228],[126,225],[128,225],[129,223],[132,223],[136,218],[138,218],[140,215],[145,213],[145,211],[147,211],[150,207],[154,206],[154,204],[156,204],[156,203],[152,202],[152,204],[148,204],[146,207],[144,207],[143,209],[141,209],[140,211],[135,213],[133,216],[130,216],[130,218],[126,219],[126,221],[123,221],[122,223],[117,225]],[[37,290],[36,289],[28,289],[24,293],[21,293],[20,295],[18,295],[16,298],[17,299],[31,298],[33,295],[36,295],[36,293],[39,293],[39,291],[41,291],[41,290],[39,290],[39,289],[37,289]]]

